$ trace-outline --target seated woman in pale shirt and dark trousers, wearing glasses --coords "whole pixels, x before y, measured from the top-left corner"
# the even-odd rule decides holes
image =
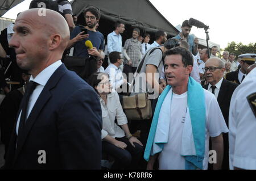
[[[127,125],[119,96],[106,73],[94,73],[88,83],[99,94],[102,109],[102,151],[114,157],[112,169],[137,169],[142,158],[142,143],[133,137]],[[117,119],[117,124],[115,124]]]

